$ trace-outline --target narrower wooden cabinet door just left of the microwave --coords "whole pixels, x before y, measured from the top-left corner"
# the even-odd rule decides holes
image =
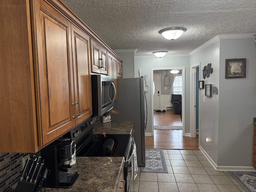
[[[72,53],[74,90],[76,102],[76,124],[92,115],[90,77],[90,38],[72,24]]]

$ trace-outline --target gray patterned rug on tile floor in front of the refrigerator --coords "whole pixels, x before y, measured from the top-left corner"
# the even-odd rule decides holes
[[[168,173],[162,149],[146,149],[145,167],[142,172]]]

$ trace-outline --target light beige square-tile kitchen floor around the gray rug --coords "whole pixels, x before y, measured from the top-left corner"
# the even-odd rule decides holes
[[[138,172],[132,192],[246,192],[200,150],[163,150],[168,173]],[[140,168],[139,168],[140,170]]]

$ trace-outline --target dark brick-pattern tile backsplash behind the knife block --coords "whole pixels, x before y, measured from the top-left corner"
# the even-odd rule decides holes
[[[0,152],[0,192],[12,191],[22,173],[22,158],[28,153]]]

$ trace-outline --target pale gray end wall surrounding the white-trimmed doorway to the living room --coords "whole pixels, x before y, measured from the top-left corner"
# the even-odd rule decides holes
[[[189,56],[180,57],[162,57],[162,58],[135,58],[135,74],[139,69],[142,69],[142,75],[148,75],[149,91],[146,94],[148,101],[148,123],[146,127],[146,134],[152,133],[152,82],[151,68],[170,68],[170,67],[185,67],[185,133],[190,133],[190,70],[189,70]],[[136,76],[138,77],[138,75]],[[183,101],[182,101],[183,102]]]

